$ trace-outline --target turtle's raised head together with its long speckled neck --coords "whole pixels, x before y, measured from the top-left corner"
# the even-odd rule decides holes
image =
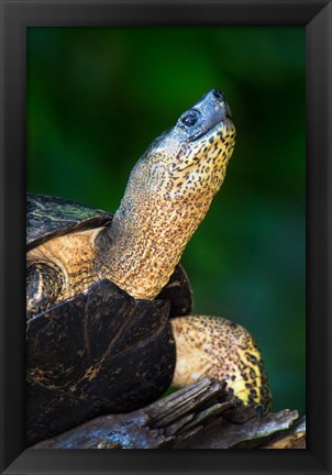
[[[221,187],[234,144],[220,89],[206,93],[151,144],[107,231],[108,266],[119,287],[143,299],[159,294]]]

